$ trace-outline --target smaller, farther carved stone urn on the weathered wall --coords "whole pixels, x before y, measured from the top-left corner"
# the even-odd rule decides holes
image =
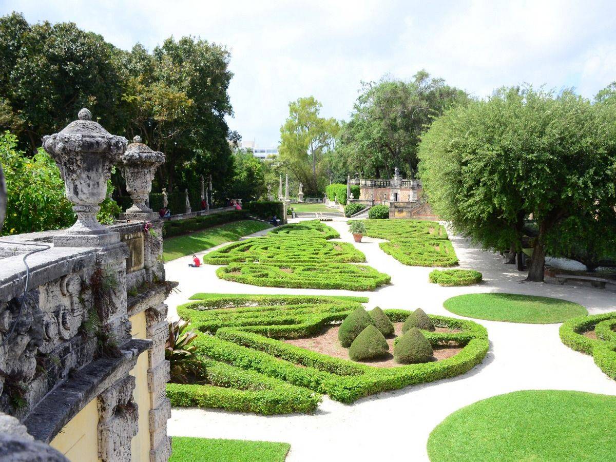
[[[120,217],[126,220],[155,220],[155,213],[145,201],[152,190],[152,180],[156,169],[164,163],[164,154],[150,149],[137,135],[120,158],[122,175],[126,180],[126,190],[131,195],[132,206]]]

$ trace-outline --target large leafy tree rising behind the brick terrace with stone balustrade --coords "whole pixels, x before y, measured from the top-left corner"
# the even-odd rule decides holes
[[[336,177],[359,171],[388,178],[397,167],[414,178],[421,132],[435,116],[467,100],[464,91],[424,70],[410,81],[387,77],[362,83],[351,119],[339,134],[331,170]]]

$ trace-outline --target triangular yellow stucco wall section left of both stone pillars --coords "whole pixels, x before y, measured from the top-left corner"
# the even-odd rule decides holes
[[[70,461],[98,462],[98,425],[99,410],[93,399],[55,436],[51,446]]]

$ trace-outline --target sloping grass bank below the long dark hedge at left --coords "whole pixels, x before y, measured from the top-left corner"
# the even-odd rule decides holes
[[[164,261],[174,260],[269,228],[261,221],[241,220],[163,240]]]

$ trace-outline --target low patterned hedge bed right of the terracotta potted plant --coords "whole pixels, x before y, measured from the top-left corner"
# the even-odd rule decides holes
[[[381,249],[405,265],[455,266],[458,257],[443,225],[421,220],[366,220],[366,235],[389,242]]]

